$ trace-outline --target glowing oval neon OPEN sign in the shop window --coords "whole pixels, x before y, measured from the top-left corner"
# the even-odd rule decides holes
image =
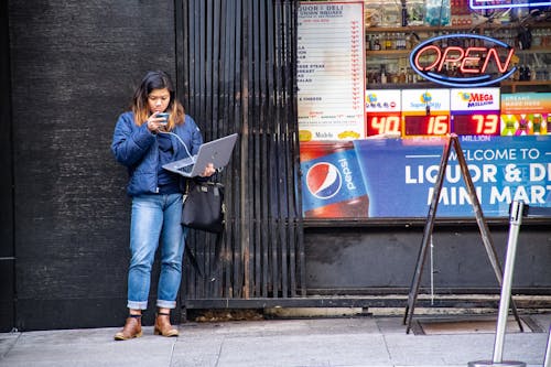
[[[468,44],[468,46],[466,46]],[[451,87],[482,87],[507,79],[515,50],[478,34],[447,34],[420,43],[410,54],[415,73]]]

